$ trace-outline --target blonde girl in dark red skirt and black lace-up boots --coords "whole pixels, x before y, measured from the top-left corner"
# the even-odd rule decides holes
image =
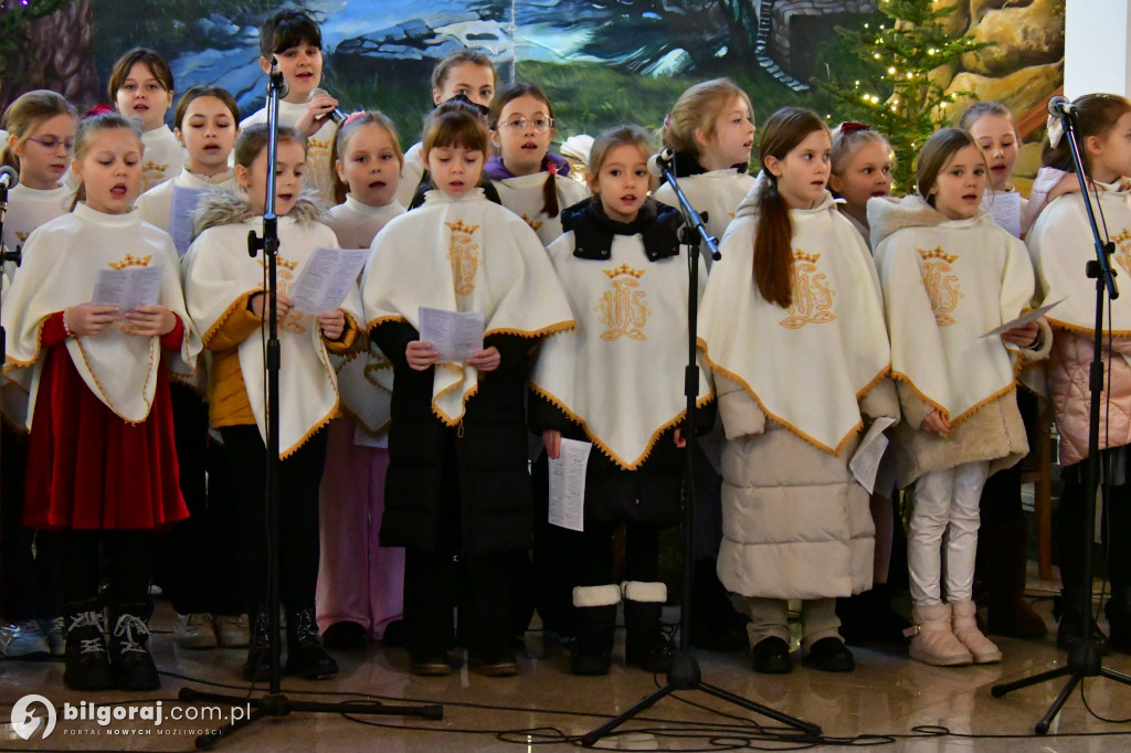
[[[61,531],[72,690],[161,685],[146,626],[154,530],[188,516],[167,371],[187,370],[199,339],[172,240],[132,208],[140,136],[116,114],[79,123],[72,170],[84,200],[32,233],[3,302],[6,370],[36,374],[24,521]],[[101,270],[132,267],[159,268],[155,304],[122,312],[90,302]]]

